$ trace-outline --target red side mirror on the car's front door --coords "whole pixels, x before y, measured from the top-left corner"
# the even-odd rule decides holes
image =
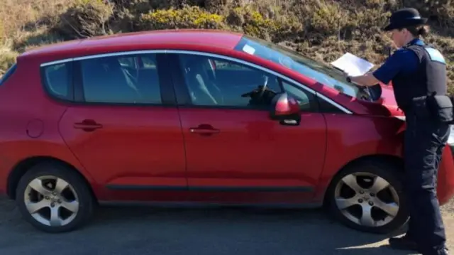
[[[301,114],[297,100],[287,93],[276,94],[272,98],[270,118],[279,121],[282,125],[299,125]]]

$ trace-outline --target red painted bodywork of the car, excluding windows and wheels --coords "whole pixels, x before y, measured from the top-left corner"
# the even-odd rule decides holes
[[[77,170],[99,202],[316,207],[345,166],[362,158],[402,163],[405,123],[397,117],[403,114],[392,88],[383,85],[377,102],[350,97],[284,65],[234,50],[242,36],[153,31],[23,53],[16,70],[0,85],[0,191],[14,198],[28,168],[53,160]],[[43,87],[43,63],[131,50],[237,58],[304,84],[349,114],[304,112],[301,124],[289,127],[257,110],[84,104],[51,97]],[[171,88],[172,82],[166,86]],[[197,134],[194,128],[204,126],[211,133]],[[446,146],[438,173],[441,204],[454,192],[451,150]]]

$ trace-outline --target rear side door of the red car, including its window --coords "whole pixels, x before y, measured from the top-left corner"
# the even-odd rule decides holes
[[[187,188],[182,129],[165,59],[164,53],[123,53],[73,63],[77,103],[62,116],[60,131],[102,188]]]

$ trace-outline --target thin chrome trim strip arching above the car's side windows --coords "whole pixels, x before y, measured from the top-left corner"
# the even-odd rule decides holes
[[[319,92],[316,92],[314,89],[311,89],[311,88],[307,87],[306,85],[301,84],[301,82],[297,82],[296,80],[293,80],[292,78],[289,78],[289,77],[287,77],[285,75],[281,75],[278,72],[270,70],[270,69],[268,69],[266,67],[262,67],[260,65],[256,65],[254,63],[250,63],[248,61],[241,60],[241,59],[238,59],[238,58],[232,58],[232,57],[229,57],[229,56],[226,56],[226,55],[217,54],[217,53],[206,53],[206,52],[202,52],[202,51],[199,51],[199,50],[131,50],[131,51],[116,52],[116,53],[101,53],[101,54],[81,56],[81,57],[77,57],[77,58],[67,58],[67,59],[63,59],[63,60],[55,60],[55,61],[51,61],[51,62],[48,62],[48,63],[42,63],[40,66],[43,67],[43,66],[46,66],[46,65],[53,65],[55,63],[65,63],[65,62],[69,62],[69,61],[85,60],[85,59],[89,59],[89,58],[102,58],[102,57],[108,57],[108,56],[137,55],[137,54],[150,54],[150,53],[164,53],[165,55],[167,55],[167,53],[168,54],[203,55],[203,56],[206,56],[206,57],[230,60],[232,62],[240,63],[240,64],[247,65],[247,66],[250,66],[250,67],[253,67],[253,68],[255,67],[255,68],[259,69],[259,70],[262,70],[264,72],[268,72],[268,73],[270,73],[272,75],[275,75],[276,77],[278,77],[278,78],[280,78],[282,80],[286,80],[287,82],[294,83],[299,88],[304,89],[307,92],[314,94],[316,97],[321,97],[326,102],[328,102],[330,104],[333,104],[334,107],[340,109],[341,112],[344,112],[345,114],[353,114],[353,112],[351,112],[349,109],[343,107],[341,104],[338,104],[338,103],[334,102],[333,99],[330,99],[330,98],[326,97],[325,95],[323,95],[323,94],[321,94]],[[168,60],[168,58],[165,58],[165,59]],[[168,61],[166,61],[166,62],[168,64],[170,64]],[[167,75],[168,75],[168,73],[167,73]],[[175,85],[174,85],[174,87],[175,87]],[[86,104],[86,103],[84,103],[84,104]],[[97,104],[97,103],[95,103],[95,104]],[[101,104],[105,104],[105,103],[101,103]],[[127,104],[127,105],[140,106],[140,105],[146,105],[146,104]],[[156,104],[150,104],[150,105],[156,105]],[[164,104],[160,104],[160,106],[163,106],[163,105]]]

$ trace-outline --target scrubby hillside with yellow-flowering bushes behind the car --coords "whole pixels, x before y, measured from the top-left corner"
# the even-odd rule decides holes
[[[350,51],[380,64],[391,45],[380,28],[403,6],[430,17],[426,41],[449,64],[454,60],[450,0],[0,0],[0,6],[0,75],[29,48],[166,28],[241,31],[326,62]],[[448,68],[454,92],[454,67]]]

